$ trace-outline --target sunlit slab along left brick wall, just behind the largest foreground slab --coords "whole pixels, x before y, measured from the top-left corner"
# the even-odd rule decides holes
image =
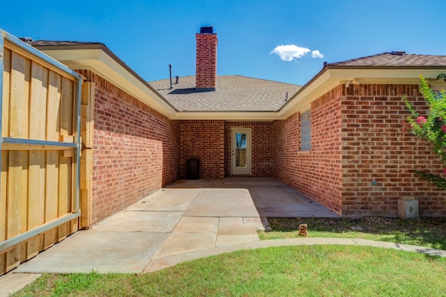
[[[178,211],[120,211],[91,227],[95,231],[171,232],[183,212]]]

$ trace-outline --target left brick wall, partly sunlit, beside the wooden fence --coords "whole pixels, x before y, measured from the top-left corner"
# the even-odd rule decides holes
[[[93,222],[178,178],[180,125],[83,70],[95,82]]]

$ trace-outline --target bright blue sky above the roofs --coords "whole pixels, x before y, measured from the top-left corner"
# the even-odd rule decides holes
[[[174,76],[194,75],[195,33],[210,25],[218,75],[303,85],[324,61],[392,50],[446,55],[445,0],[26,2],[2,3],[1,29],[34,40],[105,43],[148,81],[168,78],[169,63]]]

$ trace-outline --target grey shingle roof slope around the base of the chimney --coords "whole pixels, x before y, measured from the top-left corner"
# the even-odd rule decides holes
[[[217,76],[215,91],[195,91],[195,76],[148,82],[179,112],[275,112],[302,86],[240,75]]]

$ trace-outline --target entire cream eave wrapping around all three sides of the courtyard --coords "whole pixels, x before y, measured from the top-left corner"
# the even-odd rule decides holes
[[[446,66],[325,66],[277,112],[178,112],[160,93],[102,44],[40,45],[36,48],[73,70],[91,70],[169,119],[274,121],[305,112],[317,98],[354,78],[360,84],[419,84]]]

